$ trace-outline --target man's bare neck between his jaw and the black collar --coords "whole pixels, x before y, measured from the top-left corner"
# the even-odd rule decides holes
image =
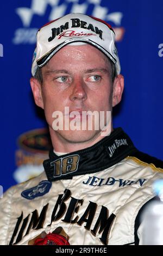
[[[111,131],[113,131],[112,124]],[[81,141],[80,136],[79,139],[76,139],[76,141],[71,141],[70,139],[66,139],[65,137],[61,136],[60,133],[54,131],[51,127],[49,127],[49,132],[51,135],[54,150],[62,153],[71,153],[77,150],[89,148],[104,138],[102,133],[99,132],[89,139],[83,139],[83,141]]]

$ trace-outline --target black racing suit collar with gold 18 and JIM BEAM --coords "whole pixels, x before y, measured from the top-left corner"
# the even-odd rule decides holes
[[[119,127],[92,147],[57,156],[53,150],[43,167],[49,181],[100,172],[137,151],[129,136]]]

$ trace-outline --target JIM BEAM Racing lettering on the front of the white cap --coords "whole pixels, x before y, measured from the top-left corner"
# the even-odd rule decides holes
[[[103,39],[102,38],[103,31],[98,27],[93,26],[91,23],[87,24],[86,21],[82,21],[80,19],[71,19],[71,21],[72,21],[71,24],[70,22],[66,22],[65,25],[61,25],[58,28],[52,28],[52,36],[48,38],[48,41],[51,42],[57,35],[59,35],[58,39],[61,39],[62,36],[82,36],[82,35],[84,36],[99,35],[99,38]],[[74,30],[67,30],[70,28],[83,28],[83,29],[89,30],[90,33],[84,33],[83,31],[76,32]]]

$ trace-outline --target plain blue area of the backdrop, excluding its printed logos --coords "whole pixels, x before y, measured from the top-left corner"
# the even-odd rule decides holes
[[[32,0],[1,1],[0,57],[1,83],[1,179],[6,190],[16,184],[12,174],[16,169],[16,139],[21,133],[45,127],[40,118],[30,91],[30,67],[35,43],[14,43],[18,28],[39,28],[49,21],[52,11],[46,2],[43,14],[33,14],[30,24],[24,26],[17,8],[32,8]],[[121,12],[121,24],[108,21],[113,27],[123,27],[122,41],[117,42],[125,90],[122,102],[114,111],[114,127],[121,126],[133,140],[135,146],[163,160],[162,155],[162,101],[163,57],[159,57],[159,44],[163,44],[162,0],[114,0],[114,1],[52,1],[58,7],[65,4],[62,15],[71,12],[74,4],[87,4],[86,14],[92,15],[97,5],[108,8],[108,14]],[[51,2],[51,3],[52,3]],[[96,2],[96,3],[95,3]],[[81,5],[82,6],[82,5]],[[53,6],[54,7],[54,6]],[[56,7],[57,8],[57,7]],[[55,18],[55,17],[54,17]],[[29,42],[30,41],[30,42]]]

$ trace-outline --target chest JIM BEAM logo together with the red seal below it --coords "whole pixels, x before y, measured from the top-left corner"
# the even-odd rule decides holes
[[[74,217],[74,212],[76,212],[76,217]],[[77,212],[80,214],[78,215]],[[68,227],[71,229],[74,228],[73,225],[75,229],[77,227],[85,228],[87,232],[90,231],[91,236],[98,237],[102,244],[108,245],[109,233],[115,219],[116,215],[112,210],[106,208],[102,203],[98,205],[91,200],[88,201],[85,197],[74,198],[72,192],[66,188],[63,193],[58,194],[57,200],[53,202],[51,200],[41,208],[39,207],[39,210],[32,208],[30,212],[30,209],[29,211],[26,208],[22,209],[21,215],[16,218],[17,222],[9,245],[16,245],[26,235],[30,235],[32,238],[35,231],[39,229],[40,233],[43,230],[42,233],[37,233],[36,237],[28,242],[28,245],[68,245],[70,237],[69,234],[66,234],[66,230],[57,227],[52,231],[55,221],[69,223]],[[65,224],[63,225],[65,226]],[[47,234],[45,230],[52,233]],[[89,233],[87,237],[89,237]]]

